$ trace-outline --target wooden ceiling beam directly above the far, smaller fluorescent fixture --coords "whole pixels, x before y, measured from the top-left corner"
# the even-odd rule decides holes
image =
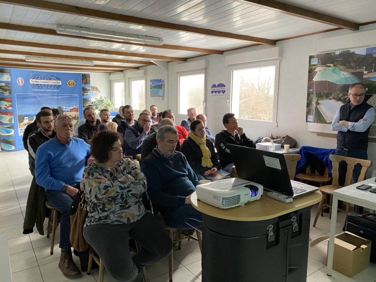
[[[110,58],[96,58],[96,57],[83,57],[83,56],[70,56],[52,53],[38,53],[38,52],[27,52],[27,51],[16,51],[16,50],[5,50],[0,49],[0,53],[12,54],[12,55],[25,55],[25,56],[36,56],[36,57],[48,57],[48,58],[60,58],[60,59],[73,59],[73,60],[91,60],[100,62],[113,62],[113,63],[123,63],[123,64],[142,64],[142,65],[155,65],[152,62],[146,61],[132,61],[132,60],[121,60],[121,59],[110,59]]]

